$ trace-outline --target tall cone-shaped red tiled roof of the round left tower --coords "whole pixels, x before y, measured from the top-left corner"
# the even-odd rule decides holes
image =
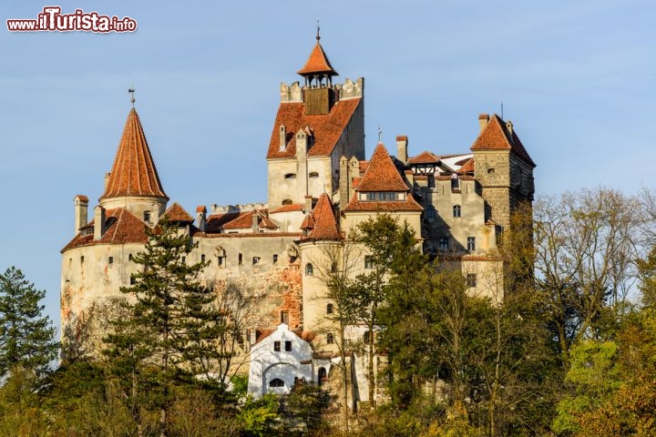
[[[167,198],[134,108],[129,112],[107,188],[101,198],[123,196]]]

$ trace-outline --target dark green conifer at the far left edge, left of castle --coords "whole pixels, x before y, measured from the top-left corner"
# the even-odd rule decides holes
[[[20,269],[11,267],[0,275],[0,378],[15,368],[38,374],[56,358],[55,328],[39,305],[45,296]]]

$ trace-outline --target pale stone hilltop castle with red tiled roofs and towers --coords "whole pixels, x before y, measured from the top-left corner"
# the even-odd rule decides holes
[[[489,281],[481,279],[502,267],[497,240],[513,208],[534,192],[535,163],[512,123],[479,116],[479,135],[466,153],[410,157],[408,138],[398,136],[395,157],[379,141],[367,160],[364,78],[333,83],[338,74],[319,39],[298,71],[302,84],[280,87],[266,151],[265,204],[199,206],[195,217],[169,205],[137,111],[129,111],[91,219],[88,198],[74,198],[75,235],[61,250],[63,335],[75,336],[94,305],[121,295],[138,268],[131,259],[147,241],[145,226],[162,216],[198,243],[187,260],[210,261],[207,279],[241,278],[259,293],[263,321],[249,337],[255,395],[288,392],[296,378],[321,383],[332,363],[345,359],[326,328],[333,305],[316,263],[325,260],[323,245],[343,244],[376,214],[405,221],[426,253],[459,263],[472,292],[490,293]],[[366,256],[358,262],[359,271],[371,269]],[[363,335],[357,327],[350,332]],[[364,358],[351,359],[360,399],[366,399],[358,364]]]

